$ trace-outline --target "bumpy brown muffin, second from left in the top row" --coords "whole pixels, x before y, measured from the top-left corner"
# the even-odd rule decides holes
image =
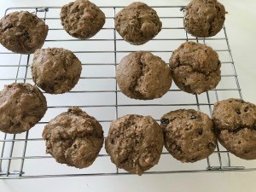
[[[73,38],[91,38],[104,24],[104,13],[90,1],[76,0],[61,7],[61,25]]]

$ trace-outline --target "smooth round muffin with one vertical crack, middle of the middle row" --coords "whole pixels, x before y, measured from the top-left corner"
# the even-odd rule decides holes
[[[140,100],[160,98],[172,84],[170,67],[147,51],[126,55],[117,67],[116,79],[125,96]]]

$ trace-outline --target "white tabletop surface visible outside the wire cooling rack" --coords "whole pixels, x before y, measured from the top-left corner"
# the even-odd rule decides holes
[[[57,2],[57,3],[56,3]],[[0,0],[0,15],[8,7],[19,6],[61,6],[68,1],[4,1]],[[125,5],[132,1],[93,1],[102,5]],[[185,5],[185,0],[143,1],[148,5]],[[236,71],[241,85],[242,95],[248,102],[256,103],[256,3],[253,0],[220,1],[226,10],[225,26]],[[242,163],[246,163],[242,161]],[[38,165],[40,166],[40,165]],[[256,165],[255,165],[256,166]],[[254,166],[254,167],[255,167]],[[225,173],[193,173],[167,174],[155,176],[119,176],[119,177],[63,177],[48,179],[0,180],[0,192],[30,192],[30,191],[247,191],[253,192],[253,180],[256,172],[225,172]]]

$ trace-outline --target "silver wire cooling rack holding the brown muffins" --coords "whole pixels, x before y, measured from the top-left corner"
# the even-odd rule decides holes
[[[194,108],[211,116],[212,105],[218,100],[240,97],[236,68],[231,55],[225,27],[213,38],[194,38],[183,28],[183,6],[153,7],[163,23],[162,31],[153,40],[141,46],[126,43],[115,31],[113,18],[122,7],[101,7],[106,15],[106,24],[94,38],[79,40],[70,37],[61,26],[60,7],[10,8],[13,11],[27,10],[44,19],[49,25],[46,47],[70,49],[82,61],[83,71],[79,83],[69,93],[49,95],[44,93],[48,111],[44,118],[26,133],[13,135],[0,133],[0,178],[114,176],[130,173],[117,169],[110,161],[105,149],[94,164],[85,169],[61,165],[48,154],[42,131],[50,119],[71,106],[79,106],[102,124],[105,137],[114,119],[127,113],[160,117],[178,108]],[[136,50],[148,50],[168,62],[172,51],[185,41],[195,41],[212,46],[222,61],[222,80],[218,87],[201,95],[191,95],[172,84],[165,96],[153,101],[131,100],[124,96],[116,84],[115,67],[125,55]],[[14,82],[32,82],[30,65],[33,55],[19,55],[0,47],[0,88]],[[254,164],[254,165],[253,165]],[[246,166],[245,166],[246,165]],[[230,172],[256,171],[255,160],[245,161],[230,154],[218,144],[214,153],[206,160],[183,164],[174,160],[164,149],[160,162],[144,174],[185,173],[185,172]]]

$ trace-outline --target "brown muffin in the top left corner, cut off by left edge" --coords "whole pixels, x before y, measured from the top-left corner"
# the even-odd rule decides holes
[[[43,46],[48,26],[38,16],[16,11],[0,20],[0,43],[20,54],[32,54]]]

